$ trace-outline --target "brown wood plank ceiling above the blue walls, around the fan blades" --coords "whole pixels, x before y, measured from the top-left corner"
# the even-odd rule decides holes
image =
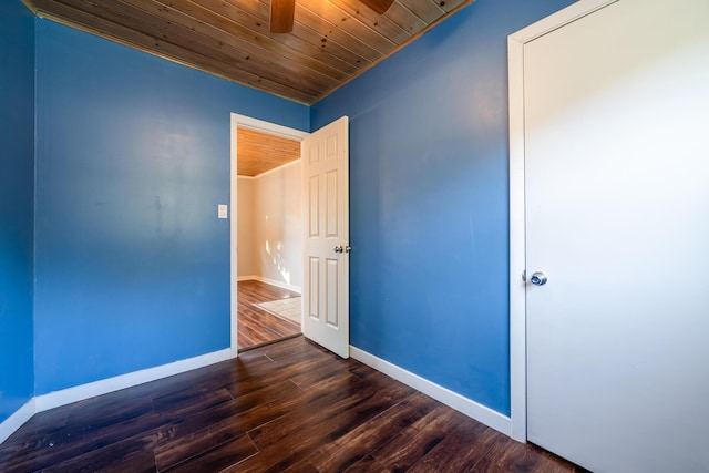
[[[312,104],[473,0],[296,0],[291,33],[270,0],[24,0],[62,23],[296,102]]]

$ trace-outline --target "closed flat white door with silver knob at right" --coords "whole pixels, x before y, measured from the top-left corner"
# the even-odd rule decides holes
[[[619,0],[524,47],[527,438],[709,472],[709,1]],[[537,280],[536,282],[541,282]]]

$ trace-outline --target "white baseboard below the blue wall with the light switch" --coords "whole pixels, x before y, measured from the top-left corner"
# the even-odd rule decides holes
[[[35,412],[42,412],[60,405],[70,404],[72,402],[82,401],[95,395],[105,394],[121,389],[131,388],[133,385],[143,384],[145,382],[155,381],[161,378],[167,378],[196,368],[206,367],[219,361],[232,358],[232,350],[224,349],[213,351],[212,353],[202,354],[199,357],[179,360],[160,367],[147,368],[145,370],[133,371],[131,373],[121,374],[73,388],[62,389],[61,391],[50,392],[48,394],[38,395],[33,399]]]

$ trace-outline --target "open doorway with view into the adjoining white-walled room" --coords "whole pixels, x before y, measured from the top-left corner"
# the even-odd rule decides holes
[[[301,332],[300,141],[306,135],[232,114],[233,356]]]

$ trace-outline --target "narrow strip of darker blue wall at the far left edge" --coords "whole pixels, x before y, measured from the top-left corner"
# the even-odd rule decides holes
[[[0,2],[0,422],[33,393],[34,20]]]

